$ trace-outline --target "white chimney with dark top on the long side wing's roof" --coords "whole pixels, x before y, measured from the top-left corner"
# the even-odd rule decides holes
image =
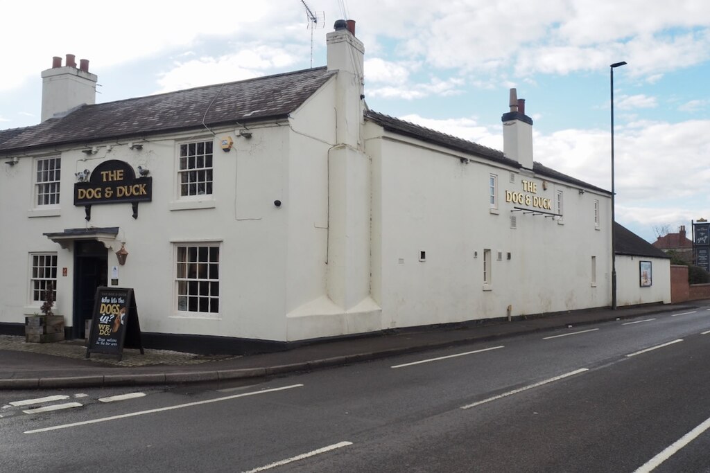
[[[532,118],[525,115],[525,99],[518,99],[518,91],[510,89],[510,111],[503,113],[503,153],[532,169]]]

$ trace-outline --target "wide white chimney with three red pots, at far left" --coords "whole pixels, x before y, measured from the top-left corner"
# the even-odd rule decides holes
[[[89,72],[89,61],[80,60],[77,68],[75,55],[67,54],[66,59],[62,67],[62,58],[53,57],[52,67],[42,72],[42,121],[96,103],[97,76]]]

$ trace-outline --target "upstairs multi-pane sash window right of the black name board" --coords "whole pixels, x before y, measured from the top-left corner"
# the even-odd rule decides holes
[[[212,140],[181,143],[178,160],[178,195],[212,195]]]

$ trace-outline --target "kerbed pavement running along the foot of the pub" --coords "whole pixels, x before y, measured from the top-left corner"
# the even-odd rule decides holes
[[[439,328],[391,330],[314,342],[283,352],[260,355],[195,355],[169,350],[124,349],[122,359],[92,353],[83,340],[26,343],[23,337],[0,335],[0,389],[77,388],[97,386],[175,385],[268,378],[292,372],[350,365],[405,353],[509,338],[527,333],[574,330],[581,325],[692,311],[710,301],[651,304],[569,311],[534,318],[513,318],[447,325]]]

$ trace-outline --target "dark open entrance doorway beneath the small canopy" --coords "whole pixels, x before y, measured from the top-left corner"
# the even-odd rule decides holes
[[[74,242],[74,316],[72,336],[84,338],[84,321],[92,317],[96,288],[107,286],[109,252],[97,240]]]

